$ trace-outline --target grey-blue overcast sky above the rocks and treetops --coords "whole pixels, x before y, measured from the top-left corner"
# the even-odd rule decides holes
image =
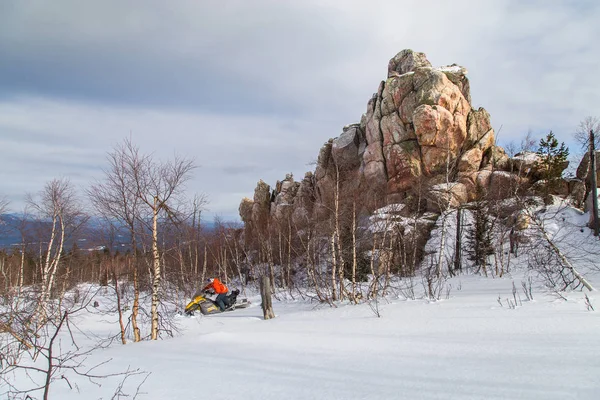
[[[0,197],[83,191],[131,135],[196,160],[207,218],[301,179],[400,50],[466,67],[500,144],[600,116],[600,2],[0,0]]]

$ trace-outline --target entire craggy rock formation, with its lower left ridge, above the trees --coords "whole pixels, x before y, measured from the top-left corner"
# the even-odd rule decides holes
[[[323,145],[314,173],[300,182],[287,176],[270,195],[260,181],[254,200],[240,205],[242,221],[247,227],[267,219],[301,226],[327,218],[336,193],[372,211],[375,205],[415,204],[417,188],[418,208],[423,211],[425,202],[440,211],[472,201],[478,188],[503,198],[533,183],[534,175],[521,168],[511,172],[519,160],[494,145],[490,115],[472,108],[466,75],[461,66],[434,68],[425,54],[401,51],[360,123]]]

